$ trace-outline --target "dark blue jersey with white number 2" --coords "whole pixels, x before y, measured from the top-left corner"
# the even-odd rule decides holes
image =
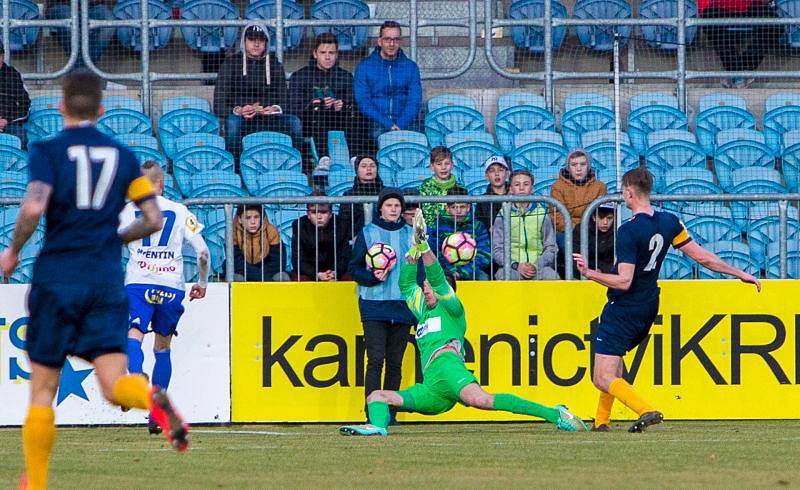
[[[627,291],[608,289],[609,301],[641,304],[658,299],[658,274],[670,245],[680,248],[692,239],[677,216],[663,211],[637,213],[617,230],[617,263],[633,264]]]

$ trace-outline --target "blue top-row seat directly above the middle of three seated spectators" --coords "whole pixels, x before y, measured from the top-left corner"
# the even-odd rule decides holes
[[[321,0],[311,5],[311,18],[330,20],[331,25],[315,27],[314,35],[330,32],[339,42],[339,51],[352,51],[367,44],[367,26],[339,25],[339,19],[369,19],[369,7],[361,0]]]

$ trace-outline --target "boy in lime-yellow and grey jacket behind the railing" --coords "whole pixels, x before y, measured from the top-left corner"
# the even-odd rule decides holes
[[[527,170],[511,173],[512,196],[529,196],[533,192],[533,175]],[[492,257],[504,263],[505,223],[502,210],[492,226]],[[511,279],[558,279],[555,271],[555,228],[547,208],[535,202],[515,202],[511,205]],[[502,279],[503,267],[497,269],[495,278]]]

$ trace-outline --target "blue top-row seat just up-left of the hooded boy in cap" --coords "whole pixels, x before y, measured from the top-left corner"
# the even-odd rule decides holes
[[[239,9],[230,0],[191,0],[181,7],[185,20],[236,20]],[[186,45],[201,53],[219,53],[239,45],[239,29],[222,26],[185,26],[181,36]]]

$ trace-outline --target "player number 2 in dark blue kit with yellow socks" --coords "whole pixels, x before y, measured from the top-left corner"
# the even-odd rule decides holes
[[[622,176],[622,197],[633,217],[617,231],[614,271],[604,273],[589,269],[581,254],[573,254],[578,271],[584,277],[608,287],[608,303],[592,336],[595,353],[592,381],[601,391],[593,429],[597,431],[609,430],[614,398],[639,415],[629,432],[642,432],[664,419],[661,412],[643,400],[622,378],[622,356],[638,346],[650,332],[658,313],[658,274],[670,245],[703,267],[755,284],[761,291],[757,278],[725,263],[693,241],[675,215],[654,210],[650,205],[652,189],[653,176],[645,167]]]

